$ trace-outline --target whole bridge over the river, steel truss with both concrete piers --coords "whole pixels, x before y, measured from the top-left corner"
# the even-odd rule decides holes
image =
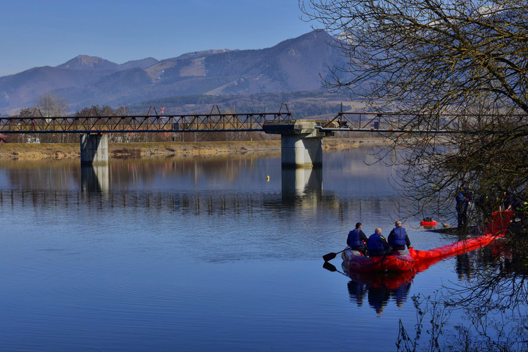
[[[151,107],[145,115],[99,116],[96,111],[89,115],[43,116],[36,110],[28,117],[0,118],[0,134],[80,134],[81,163],[93,164],[108,163],[108,134],[112,133],[262,131],[281,134],[283,166],[313,167],[322,163],[322,138],[337,131],[460,133],[467,127],[467,118],[461,120],[459,115],[415,122],[416,115],[346,113],[342,108],[332,119],[296,120],[285,103],[277,113],[220,113],[213,106],[208,114],[161,115]]]

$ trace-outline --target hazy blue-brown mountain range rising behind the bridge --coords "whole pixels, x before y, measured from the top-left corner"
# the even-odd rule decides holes
[[[70,111],[79,111],[141,106],[168,97],[318,91],[329,67],[346,63],[331,41],[327,32],[313,31],[267,49],[208,50],[122,64],[80,55],[56,67],[0,77],[0,115],[30,108],[47,92],[65,98]]]

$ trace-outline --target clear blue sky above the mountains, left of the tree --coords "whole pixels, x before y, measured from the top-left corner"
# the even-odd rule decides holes
[[[15,0],[0,4],[0,76],[77,55],[115,63],[262,49],[310,32],[298,0]]]

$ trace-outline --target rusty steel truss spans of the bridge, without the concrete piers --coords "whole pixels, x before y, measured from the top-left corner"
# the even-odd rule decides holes
[[[283,111],[284,109],[284,111]],[[151,111],[153,110],[153,113]],[[208,114],[160,115],[149,108],[146,115],[127,116],[42,116],[0,118],[0,134],[21,133],[118,133],[118,132],[249,132],[263,131],[266,122],[291,122],[285,103],[277,113],[220,113],[214,107]],[[36,111],[39,112],[39,111]],[[418,119],[417,119],[418,117]],[[420,121],[417,115],[401,113],[344,113],[328,120],[314,120],[325,132],[427,132],[460,133],[472,130],[479,116],[440,115],[434,122]],[[411,122],[412,121],[412,122]]]

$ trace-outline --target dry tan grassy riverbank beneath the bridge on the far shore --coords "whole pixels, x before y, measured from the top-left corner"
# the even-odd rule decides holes
[[[323,151],[338,151],[360,145],[381,145],[382,138],[325,138]],[[238,142],[149,142],[149,143],[109,143],[108,156],[156,157],[156,156],[217,156],[245,153],[280,153],[280,140],[238,141]],[[0,144],[0,158],[26,160],[80,158],[80,145],[68,144]]]

